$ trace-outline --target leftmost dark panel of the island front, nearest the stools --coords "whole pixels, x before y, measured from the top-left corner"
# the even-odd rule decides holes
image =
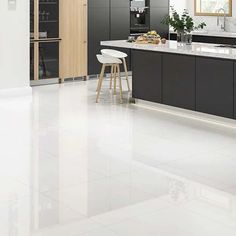
[[[161,102],[162,55],[155,52],[132,51],[133,97]]]

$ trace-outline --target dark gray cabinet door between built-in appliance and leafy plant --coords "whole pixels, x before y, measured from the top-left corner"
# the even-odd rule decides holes
[[[150,29],[156,30],[161,37],[168,38],[169,27],[162,24],[161,21],[169,14],[167,7],[151,7],[150,8]]]

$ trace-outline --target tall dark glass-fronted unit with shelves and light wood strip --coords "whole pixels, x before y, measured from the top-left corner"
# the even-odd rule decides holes
[[[31,85],[58,82],[59,42],[59,0],[31,0]]]

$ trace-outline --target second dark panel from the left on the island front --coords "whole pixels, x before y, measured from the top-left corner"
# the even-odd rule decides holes
[[[163,103],[195,110],[195,57],[163,55]]]

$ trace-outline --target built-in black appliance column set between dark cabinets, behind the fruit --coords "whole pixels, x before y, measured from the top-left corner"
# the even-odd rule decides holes
[[[150,0],[130,1],[130,34],[142,34],[150,30]]]

